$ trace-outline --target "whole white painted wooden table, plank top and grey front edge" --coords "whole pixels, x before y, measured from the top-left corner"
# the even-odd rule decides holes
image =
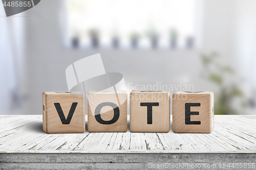
[[[41,115],[1,115],[0,153],[0,167],[6,168],[109,168],[111,163],[111,168],[134,169],[149,168],[150,162],[256,163],[256,116],[215,115],[210,134],[174,133],[172,119],[169,133],[131,133],[128,125],[126,133],[46,134]]]

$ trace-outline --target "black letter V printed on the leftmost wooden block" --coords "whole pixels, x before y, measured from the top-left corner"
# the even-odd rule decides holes
[[[54,103],[54,106],[55,106],[55,108],[56,108],[56,110],[57,110],[57,112],[59,114],[59,118],[61,120],[61,123],[63,125],[69,125],[70,121],[71,121],[71,118],[72,118],[72,116],[73,116],[73,114],[75,112],[75,109],[76,109],[76,106],[77,106],[77,102],[72,103],[72,106],[71,106],[71,108],[69,110],[69,115],[68,115],[67,119],[66,119],[66,117],[65,117],[65,115],[64,115],[64,113],[63,113],[63,111],[61,109],[60,104],[59,103]]]

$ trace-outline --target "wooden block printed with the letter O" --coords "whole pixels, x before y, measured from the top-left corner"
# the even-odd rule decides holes
[[[88,91],[87,98],[89,132],[127,131],[126,91]]]

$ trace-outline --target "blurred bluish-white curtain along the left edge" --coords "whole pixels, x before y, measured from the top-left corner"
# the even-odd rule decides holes
[[[0,114],[21,114],[23,94],[25,37],[22,14],[6,17],[0,5]]]

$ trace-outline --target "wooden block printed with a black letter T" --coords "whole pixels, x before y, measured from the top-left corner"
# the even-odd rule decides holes
[[[130,93],[131,132],[169,132],[170,91],[133,90]]]

